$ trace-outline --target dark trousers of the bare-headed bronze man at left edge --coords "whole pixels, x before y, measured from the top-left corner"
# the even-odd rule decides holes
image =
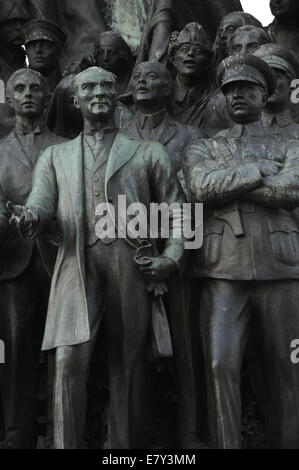
[[[0,365],[0,391],[6,438],[18,448],[33,445],[33,324],[42,323],[42,269],[36,253],[20,276],[0,283],[0,339],[5,343],[6,356],[5,364]],[[42,329],[39,333],[41,343]]]

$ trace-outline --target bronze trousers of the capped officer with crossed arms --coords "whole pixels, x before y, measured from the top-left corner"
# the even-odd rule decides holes
[[[240,373],[250,334],[264,376],[268,443],[299,448],[299,366],[292,363],[290,348],[299,338],[298,308],[297,281],[204,282],[201,337],[216,448],[241,447]]]

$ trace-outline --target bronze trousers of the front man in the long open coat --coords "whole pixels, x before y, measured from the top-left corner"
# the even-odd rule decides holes
[[[86,249],[86,294],[91,339],[56,350],[54,446],[82,446],[87,379],[97,334],[105,327],[109,371],[108,446],[147,448],[150,385],[147,347],[151,305],[146,283],[125,240]],[[104,322],[101,323],[103,319]]]

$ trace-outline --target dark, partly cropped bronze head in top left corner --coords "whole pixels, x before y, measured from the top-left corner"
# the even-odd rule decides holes
[[[22,26],[30,20],[24,0],[3,0],[0,9],[0,41],[8,47],[23,44]]]

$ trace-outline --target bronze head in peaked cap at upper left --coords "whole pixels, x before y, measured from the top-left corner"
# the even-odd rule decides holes
[[[29,67],[49,75],[58,65],[66,41],[64,32],[54,23],[33,20],[23,27]]]

